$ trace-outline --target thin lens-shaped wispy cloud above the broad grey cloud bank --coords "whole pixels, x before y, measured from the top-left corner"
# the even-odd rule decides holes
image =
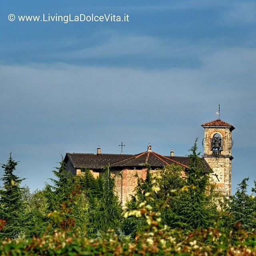
[[[185,55],[186,52],[198,52],[196,47],[186,46],[187,42],[182,40],[160,40],[150,36],[121,36],[112,35],[110,38],[92,47],[82,50],[69,51],[56,54],[56,57],[64,59],[91,59],[91,58],[118,58],[136,56],[144,58],[167,58],[172,55]]]

